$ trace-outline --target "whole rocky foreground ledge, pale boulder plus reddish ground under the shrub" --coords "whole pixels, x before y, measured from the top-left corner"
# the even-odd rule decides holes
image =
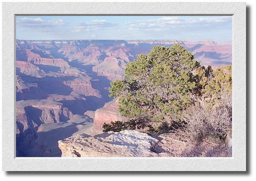
[[[204,139],[182,140],[174,134],[156,138],[135,130],[89,136],[82,133],[58,141],[62,157],[230,157],[230,145]],[[231,148],[232,149],[232,148]]]

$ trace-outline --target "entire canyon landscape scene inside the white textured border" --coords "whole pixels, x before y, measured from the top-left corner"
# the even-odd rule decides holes
[[[230,17],[16,22],[16,156],[232,156]]]

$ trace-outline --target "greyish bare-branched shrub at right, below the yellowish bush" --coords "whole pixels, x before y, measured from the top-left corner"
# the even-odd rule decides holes
[[[232,129],[232,102],[230,94],[223,95],[215,105],[203,100],[190,106],[184,113],[185,129],[178,131],[194,139],[223,138]]]

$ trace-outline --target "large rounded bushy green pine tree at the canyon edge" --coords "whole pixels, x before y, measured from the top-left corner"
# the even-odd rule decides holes
[[[199,63],[180,44],[155,46],[137,57],[127,64],[123,80],[111,82],[111,97],[119,98],[122,116],[171,123],[192,102]]]

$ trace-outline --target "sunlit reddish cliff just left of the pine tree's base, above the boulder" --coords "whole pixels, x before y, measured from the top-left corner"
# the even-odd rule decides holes
[[[111,123],[112,121],[126,121],[127,119],[118,112],[118,102],[111,101],[103,108],[95,111],[93,126],[95,129],[102,129],[104,123]]]

